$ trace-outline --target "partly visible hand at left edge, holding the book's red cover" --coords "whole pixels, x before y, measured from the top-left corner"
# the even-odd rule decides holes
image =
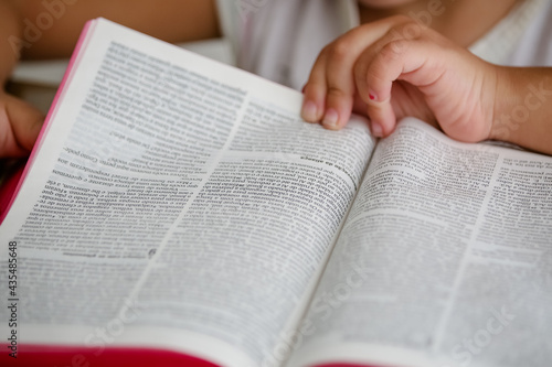
[[[0,90],[0,158],[28,155],[43,121],[34,107]]]

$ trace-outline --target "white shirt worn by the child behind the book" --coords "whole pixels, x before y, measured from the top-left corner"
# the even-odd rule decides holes
[[[300,89],[320,50],[360,24],[354,0],[219,0],[236,65]],[[470,51],[510,66],[552,66],[552,1],[524,0]]]

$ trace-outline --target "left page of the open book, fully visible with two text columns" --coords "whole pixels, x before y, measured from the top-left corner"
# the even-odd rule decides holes
[[[302,122],[301,98],[98,21],[0,227],[20,342],[279,365],[374,143]]]

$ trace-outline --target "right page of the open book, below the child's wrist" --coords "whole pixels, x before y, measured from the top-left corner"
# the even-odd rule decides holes
[[[289,366],[548,365],[551,192],[550,156],[403,120],[378,144]]]

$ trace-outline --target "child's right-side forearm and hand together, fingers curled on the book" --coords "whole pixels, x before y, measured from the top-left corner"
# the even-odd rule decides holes
[[[501,139],[552,154],[551,68],[491,65],[405,17],[361,25],[320,53],[304,118],[340,129],[353,108],[378,137],[414,116],[460,141]]]

